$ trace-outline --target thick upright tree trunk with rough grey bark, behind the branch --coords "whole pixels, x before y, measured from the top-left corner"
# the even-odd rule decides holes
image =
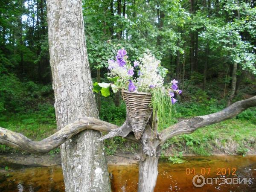
[[[48,40],[58,129],[80,116],[98,118],[84,37],[81,0],[47,1]],[[110,192],[99,131],[86,130],[61,145],[67,192]]]

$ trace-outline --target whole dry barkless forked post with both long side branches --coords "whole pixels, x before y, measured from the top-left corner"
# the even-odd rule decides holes
[[[99,140],[121,136],[140,145],[141,155],[138,192],[153,192],[157,181],[157,163],[163,143],[169,138],[179,134],[191,134],[198,128],[233,118],[247,108],[255,106],[256,96],[253,96],[249,99],[233,103],[217,113],[185,119],[164,129],[160,133],[157,132],[157,118],[154,117],[149,120],[140,140],[136,140],[134,134],[131,133],[132,128],[128,116],[124,124],[120,127],[94,117],[84,116],[66,125],[64,128],[42,141],[32,141],[22,134],[0,128],[0,144],[19,148],[31,153],[45,153],[58,147],[71,137],[86,129],[108,132],[107,135],[101,137]],[[91,147],[93,148],[93,146]],[[73,152],[76,153],[76,151]],[[87,166],[89,166],[89,163]]]

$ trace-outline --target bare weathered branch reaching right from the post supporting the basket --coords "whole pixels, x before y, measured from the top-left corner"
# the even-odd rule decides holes
[[[245,99],[239,102],[235,102],[229,107],[217,113],[212,113],[204,116],[196,116],[190,119],[183,120],[169,128],[161,131],[160,138],[162,143],[166,142],[171,137],[177,136],[179,134],[190,134],[198,128],[212,125],[217,122],[224,121],[226,119],[231,119],[237,116],[242,111],[250,107],[256,106],[256,96],[249,99]]]

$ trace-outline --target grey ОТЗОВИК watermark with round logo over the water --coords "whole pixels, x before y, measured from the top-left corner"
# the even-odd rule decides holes
[[[202,187],[205,184],[252,184],[252,178],[238,178],[238,177],[208,177],[205,178],[203,175],[195,175],[192,179],[192,183],[195,187]]]

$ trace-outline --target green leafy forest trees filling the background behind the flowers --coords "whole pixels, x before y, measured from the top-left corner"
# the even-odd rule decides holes
[[[167,81],[176,77],[184,79],[185,86],[194,84],[208,91],[207,82],[218,78],[229,103],[241,84],[253,84],[255,76],[250,73],[255,68],[256,51],[254,2],[88,0],[82,6],[93,81],[106,81],[105,64],[113,56],[114,47],[125,47],[131,61],[149,49],[169,70]],[[3,0],[1,7],[0,86],[4,93],[0,95],[0,105],[6,109],[21,105],[12,105],[6,98],[15,100],[16,95],[28,92],[25,90],[40,90],[35,87],[49,85],[51,73],[46,1]],[[234,44],[236,41],[238,44]],[[233,67],[236,64],[237,73]],[[240,74],[244,73],[247,78],[241,79]],[[18,86],[23,90],[10,91],[12,86],[3,86],[9,82],[23,84]],[[101,99],[98,95],[99,109]],[[120,95],[113,99],[119,106]],[[21,103],[24,106],[26,101]]]

